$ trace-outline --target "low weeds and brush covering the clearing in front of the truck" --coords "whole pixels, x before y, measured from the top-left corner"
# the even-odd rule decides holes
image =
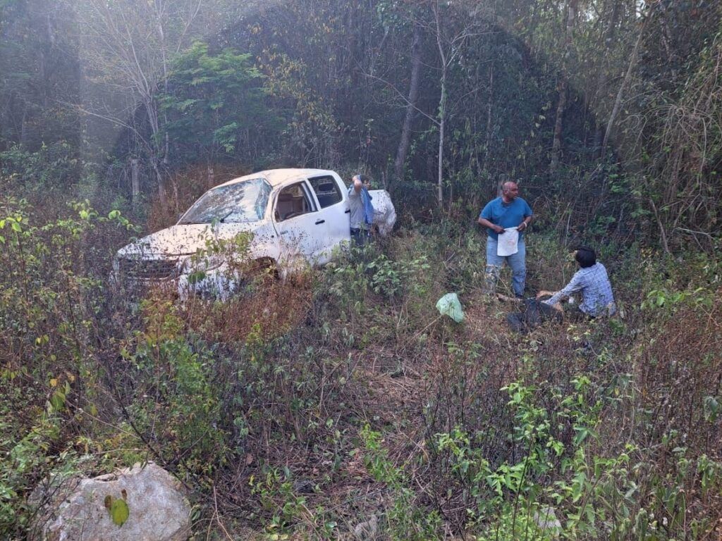
[[[231,529],[334,538],[375,517],[396,539],[718,534],[716,257],[610,256],[625,317],[520,336],[479,294],[477,232],[449,242],[448,226],[402,229],[319,273],[261,279],[256,295],[178,305],[162,291],[125,299],[106,280],[108,240],[132,230],[116,211],[82,203],[33,225],[32,209],[9,203],[11,537],[45,475],[144,459],[186,483],[199,519],[216,487]],[[547,265],[531,278],[560,279]],[[461,291],[463,325],[435,313],[448,289]]]

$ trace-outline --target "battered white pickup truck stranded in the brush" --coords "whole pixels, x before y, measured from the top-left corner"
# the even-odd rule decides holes
[[[388,192],[371,190],[374,222],[391,232],[396,212]],[[118,250],[113,276],[122,283],[170,282],[191,293],[225,300],[240,280],[214,243],[250,239],[244,258],[281,276],[327,263],[350,241],[348,190],[334,171],[277,169],[246,175],[201,195],[174,226]],[[199,257],[199,254],[202,257]]]

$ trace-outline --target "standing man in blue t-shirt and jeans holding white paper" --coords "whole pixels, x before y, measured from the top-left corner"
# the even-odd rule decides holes
[[[519,298],[524,296],[526,280],[526,247],[523,231],[531,221],[531,207],[519,197],[516,182],[504,182],[501,197],[492,199],[479,214],[479,224],[487,228],[487,268],[485,273],[486,291],[494,293],[499,281],[499,273],[504,261],[508,263],[512,273],[512,287]],[[518,251],[512,255],[497,255],[499,234],[505,229],[518,229]]]

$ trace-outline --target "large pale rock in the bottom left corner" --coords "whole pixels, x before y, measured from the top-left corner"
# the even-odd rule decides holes
[[[118,526],[105,503],[107,496],[123,495],[129,515]],[[153,462],[97,478],[66,481],[53,489],[49,499],[38,513],[31,540],[184,541],[191,532],[191,506],[181,484]]]

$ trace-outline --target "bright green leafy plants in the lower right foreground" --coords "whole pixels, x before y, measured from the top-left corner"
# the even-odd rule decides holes
[[[601,532],[623,539],[628,534],[628,517],[638,505],[638,485],[630,470],[636,449],[627,446],[612,457],[588,456],[588,446],[599,441],[596,429],[603,406],[593,396],[606,391],[595,390],[584,376],[572,383],[569,395],[552,390],[549,409],[539,405],[539,389],[520,382],[505,387],[513,413],[506,439],[521,446],[515,461],[492,465],[479,445],[482,441],[459,427],[435,434],[435,453],[468,494],[469,520],[484,524],[480,539],[578,539]],[[554,436],[564,426],[574,434],[569,444]],[[560,526],[542,528],[533,517],[547,514],[549,505]]]

